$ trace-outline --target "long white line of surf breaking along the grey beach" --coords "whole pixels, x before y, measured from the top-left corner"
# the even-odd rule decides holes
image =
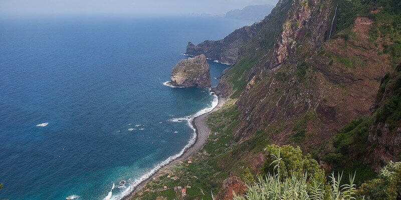
[[[210,91],[211,89],[209,89]],[[200,116],[202,114],[205,114],[207,112],[212,111],[218,104],[219,104],[219,98],[218,96],[214,93],[214,92],[210,92],[210,95],[213,95],[213,101],[211,102],[211,106],[210,107],[206,107],[204,109],[201,109],[199,111],[197,111],[194,114],[191,114],[189,116],[185,116],[185,117],[181,117],[181,118],[176,118],[176,119],[181,119],[181,121],[185,120],[187,122],[187,125],[193,130],[192,131],[192,136],[189,138],[188,143],[176,154],[169,156],[167,159],[163,160],[162,162],[158,163],[156,166],[154,166],[154,168],[152,168],[151,170],[149,170],[148,172],[146,172],[145,174],[143,174],[142,176],[140,176],[139,178],[135,179],[134,181],[132,181],[132,183],[127,186],[127,188],[125,190],[123,190],[121,193],[112,196],[112,190],[114,189],[114,183],[113,183],[113,187],[110,190],[110,192],[108,193],[108,195],[104,198],[104,200],[119,200],[121,198],[123,198],[124,196],[128,195],[129,193],[131,193],[131,191],[133,191],[133,189],[139,185],[142,181],[146,180],[147,178],[149,178],[151,175],[153,175],[157,170],[159,170],[162,166],[170,163],[172,160],[178,158],[179,156],[181,156],[186,149],[188,149],[190,146],[192,146],[192,144],[195,143],[196,141],[196,129],[195,127],[192,125],[192,121],[195,117]],[[179,120],[175,120],[175,119],[171,119],[171,121],[176,121],[176,122],[180,122]]]

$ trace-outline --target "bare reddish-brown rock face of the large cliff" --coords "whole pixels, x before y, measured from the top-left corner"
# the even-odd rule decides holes
[[[352,119],[370,113],[379,80],[390,68],[386,56],[380,55],[380,49],[371,45],[359,29],[354,30],[360,35],[355,39],[337,38],[323,44],[329,17],[317,16],[330,11],[313,9],[312,5],[297,9],[302,10],[297,14],[299,19],[308,19],[286,22],[299,26],[284,24],[273,56],[259,63],[259,67],[256,64],[259,70],[249,77],[237,102],[242,110],[242,122],[236,132],[238,140],[266,126],[278,128],[287,124],[280,133],[269,135],[272,140],[289,143],[291,135],[302,131],[303,141],[298,142],[308,149],[330,139]],[[313,22],[316,20],[321,22]],[[362,25],[368,28],[370,23]],[[311,30],[308,34],[315,36],[306,37],[302,32],[307,29]],[[351,64],[343,60],[350,60]],[[302,130],[295,127],[296,123],[302,124]]]

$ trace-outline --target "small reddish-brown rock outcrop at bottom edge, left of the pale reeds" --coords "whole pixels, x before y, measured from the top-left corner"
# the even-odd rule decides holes
[[[237,195],[243,194],[247,190],[245,183],[237,176],[232,176],[223,181],[223,187],[216,196],[219,200],[233,199],[235,192]]]

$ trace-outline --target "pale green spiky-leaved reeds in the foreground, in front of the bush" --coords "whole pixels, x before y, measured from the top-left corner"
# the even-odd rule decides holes
[[[301,176],[292,173],[290,177],[282,176],[281,167],[284,159],[281,157],[280,149],[277,154],[273,155],[274,159],[270,163],[273,168],[272,173],[265,176],[258,176],[258,181],[247,184],[247,192],[243,195],[234,194],[234,200],[264,200],[264,199],[297,199],[297,200],[351,200],[356,199],[356,188],[354,175],[349,175],[349,183],[340,185],[342,173],[337,176],[334,172],[331,174],[330,185],[325,186],[316,179],[310,177],[305,172]],[[295,168],[287,168],[287,170],[296,170]],[[308,181],[308,179],[310,179]],[[328,193],[325,197],[325,193]],[[363,199],[361,197],[360,199]]]

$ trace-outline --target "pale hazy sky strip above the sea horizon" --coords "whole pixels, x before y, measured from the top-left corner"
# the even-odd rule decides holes
[[[223,14],[278,0],[0,0],[1,14]]]

